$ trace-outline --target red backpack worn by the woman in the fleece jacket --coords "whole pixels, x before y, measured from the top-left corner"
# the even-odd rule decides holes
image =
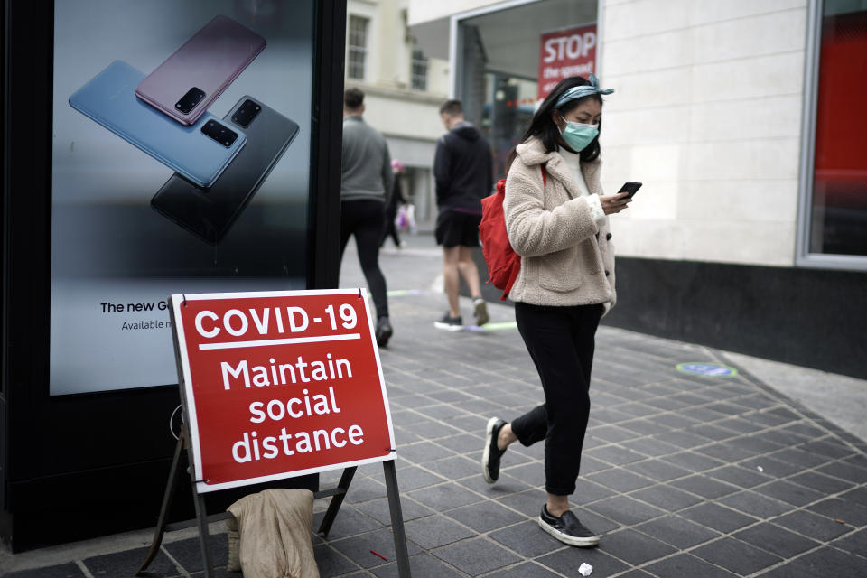
[[[542,165],[542,186],[545,186],[545,165]],[[488,265],[487,283],[503,290],[500,301],[506,301],[508,292],[515,284],[517,274],[521,271],[521,256],[515,252],[508,242],[506,232],[506,214],[503,212],[503,200],[506,199],[506,179],[497,182],[497,192],[481,200],[481,222],[479,238],[481,254]]]

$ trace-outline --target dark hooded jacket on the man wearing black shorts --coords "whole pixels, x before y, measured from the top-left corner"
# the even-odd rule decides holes
[[[481,214],[481,199],[494,186],[490,147],[470,123],[461,121],[436,142],[433,178],[439,209]]]

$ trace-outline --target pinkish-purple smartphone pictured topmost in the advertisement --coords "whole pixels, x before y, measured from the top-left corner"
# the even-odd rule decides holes
[[[265,39],[221,14],[135,87],[135,96],[190,126],[265,48]]]

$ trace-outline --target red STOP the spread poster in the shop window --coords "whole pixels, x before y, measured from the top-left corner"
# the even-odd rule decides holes
[[[595,73],[596,23],[542,34],[539,50],[539,93],[542,100],[560,80]]]

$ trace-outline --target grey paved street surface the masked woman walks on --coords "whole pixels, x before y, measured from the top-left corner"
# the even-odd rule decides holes
[[[441,253],[430,235],[405,238],[380,255],[395,327],[380,357],[413,576],[572,577],[581,564],[593,578],[867,576],[867,381],[603,320],[572,497],[603,536],[593,549],[563,545],[536,525],[542,444],[513,444],[494,485],[480,472],[488,418],[508,420],[542,400],[513,310],[491,303],[484,330],[435,329],[445,309]],[[350,247],[340,286],[362,285]],[[469,299],[461,306],[469,321]],[[709,364],[729,375],[684,371]],[[339,478],[322,473],[321,488]],[[326,507],[316,501],[314,526]],[[226,570],[224,524],[210,531],[216,575],[240,575]],[[132,576],[152,537],[145,529],[0,552],[0,575]],[[323,578],[397,575],[381,464],[359,468],[328,539],[312,543]],[[146,575],[202,576],[195,530],[166,535]]]

